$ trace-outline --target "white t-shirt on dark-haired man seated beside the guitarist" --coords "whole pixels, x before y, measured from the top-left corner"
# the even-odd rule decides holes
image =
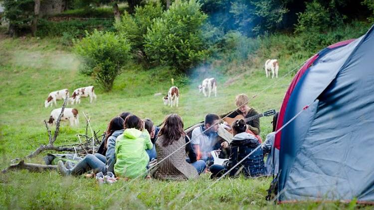
[[[201,152],[211,152],[214,149],[214,146],[218,142],[218,135],[217,133],[210,133],[206,135],[205,133],[202,133],[201,126],[196,127],[192,131],[191,136],[191,144],[192,145],[199,145]]]

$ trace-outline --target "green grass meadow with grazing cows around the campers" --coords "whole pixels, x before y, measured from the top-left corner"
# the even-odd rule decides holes
[[[0,168],[6,167],[11,159],[22,158],[40,144],[47,143],[43,120],[49,117],[52,108],[44,108],[43,105],[49,92],[68,88],[71,93],[75,88],[94,84],[91,78],[78,73],[79,60],[58,43],[55,39],[0,40]],[[109,120],[122,111],[150,117],[156,124],[161,123],[168,113],[178,113],[188,127],[201,121],[209,112],[221,114],[234,109],[233,101],[239,93],[248,96],[258,94],[250,102],[258,111],[279,110],[294,73],[283,76],[307,57],[293,59],[290,55],[283,55],[282,58],[288,59],[282,62],[278,79],[265,77],[261,58],[258,58],[258,64],[230,85],[226,82],[231,77],[214,75],[219,84],[216,98],[207,99],[198,94],[196,87],[202,77],[190,78],[190,84],[181,87],[178,108],[165,106],[162,97],[154,97],[155,93],[166,94],[171,86],[173,75],[168,69],[144,71],[137,65],[131,65],[116,79],[112,92],[104,93],[97,88],[97,101],[89,104],[88,99],[83,99],[80,105],[73,106],[79,110],[80,125],[71,128],[63,124],[55,144],[78,141],[76,134],[85,131],[83,112],[91,116],[93,129],[102,132]],[[269,88],[263,91],[266,87]],[[62,102],[59,101],[58,105]],[[271,131],[270,122],[271,117],[261,119],[263,138]],[[42,163],[45,154],[27,162]],[[93,179],[63,178],[55,171],[14,171],[0,175],[0,209],[181,209],[199,194],[202,195],[186,209],[355,207],[354,203],[274,205],[265,201],[270,182],[271,178],[227,178],[209,188],[213,181],[208,174],[203,174],[197,181],[163,182],[151,179],[99,186]],[[110,197],[122,186],[125,186],[122,191]]]

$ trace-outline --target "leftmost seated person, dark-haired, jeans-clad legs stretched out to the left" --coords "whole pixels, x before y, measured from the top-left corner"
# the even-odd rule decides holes
[[[117,116],[110,120],[108,128],[106,130],[106,139],[104,139],[105,148],[107,147],[106,142],[116,134],[118,131],[123,132],[124,120]],[[122,130],[122,131],[121,131]],[[108,153],[108,152],[107,152]],[[110,153],[110,152],[109,152]],[[96,153],[95,155],[88,154],[84,157],[79,163],[77,163],[72,169],[67,169],[62,161],[57,163],[58,169],[61,175],[68,176],[78,176],[84,174],[90,170],[93,170],[94,173],[103,172],[105,174],[107,170],[107,159],[104,155]],[[110,170],[109,170],[110,171]]]

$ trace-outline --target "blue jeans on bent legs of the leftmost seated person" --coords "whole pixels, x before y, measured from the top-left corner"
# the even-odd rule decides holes
[[[88,154],[74,168],[71,169],[71,175],[78,176],[93,170],[94,173],[106,173],[106,158],[104,155],[96,153],[95,155]]]

